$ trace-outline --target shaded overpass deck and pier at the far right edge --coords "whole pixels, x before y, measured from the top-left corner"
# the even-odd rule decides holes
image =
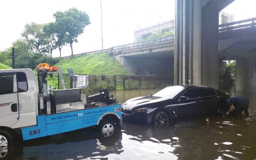
[[[244,20],[241,20],[243,22]],[[252,20],[252,24],[254,19]],[[250,24],[251,25],[251,24]],[[253,24],[255,25],[255,24]],[[232,36],[228,36],[232,35]],[[236,29],[220,35],[221,60],[236,60],[236,91],[256,91],[256,28]]]

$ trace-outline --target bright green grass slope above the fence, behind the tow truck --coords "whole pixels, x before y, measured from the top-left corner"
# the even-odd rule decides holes
[[[74,74],[131,75],[131,72],[122,68],[118,61],[106,52],[68,58],[61,60],[55,66],[61,67],[64,74],[67,74],[67,68],[73,68]]]

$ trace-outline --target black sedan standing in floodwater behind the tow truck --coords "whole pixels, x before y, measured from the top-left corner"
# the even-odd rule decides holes
[[[122,104],[122,116],[155,125],[171,119],[209,116],[225,108],[229,95],[206,86],[168,86],[145,97],[129,99]]]

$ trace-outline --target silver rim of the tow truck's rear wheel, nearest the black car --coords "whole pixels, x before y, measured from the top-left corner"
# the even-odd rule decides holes
[[[112,121],[106,121],[100,125],[100,135],[102,137],[111,137],[116,130],[116,123]]]

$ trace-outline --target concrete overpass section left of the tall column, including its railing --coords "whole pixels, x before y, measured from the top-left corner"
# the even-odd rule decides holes
[[[154,74],[173,84],[174,36],[119,45],[108,52],[133,74]]]

